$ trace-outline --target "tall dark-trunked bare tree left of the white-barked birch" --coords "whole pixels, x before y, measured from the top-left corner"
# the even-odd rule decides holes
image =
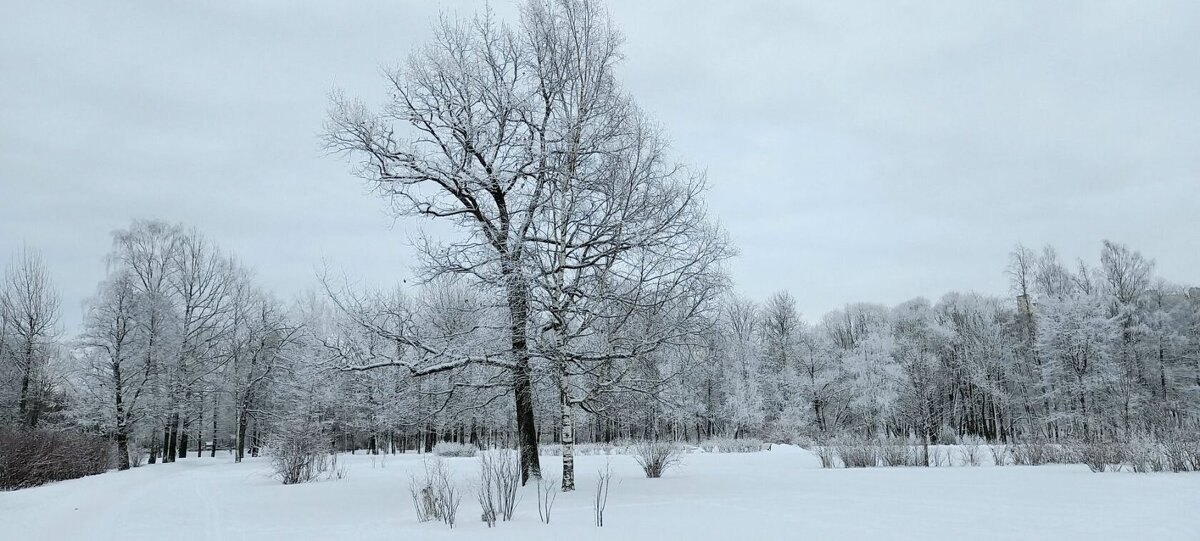
[[[553,137],[546,124],[554,92],[527,70],[532,64],[522,37],[491,13],[443,19],[431,43],[388,73],[392,100],[382,112],[335,96],[325,131],[326,146],[360,158],[358,173],[397,215],[449,221],[467,233],[420,247],[431,276],[467,275],[503,299],[506,359],[492,362],[511,374],[523,480],[540,475],[526,236],[544,202],[540,166]],[[414,337],[392,338],[421,348]],[[426,373],[474,361],[457,357]]]

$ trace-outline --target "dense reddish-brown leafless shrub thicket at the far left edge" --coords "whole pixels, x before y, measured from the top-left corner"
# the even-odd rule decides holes
[[[104,438],[76,432],[0,428],[0,489],[102,474],[113,459]]]

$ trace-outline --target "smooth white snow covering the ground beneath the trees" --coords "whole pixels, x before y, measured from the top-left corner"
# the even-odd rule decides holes
[[[605,527],[592,518],[596,470],[614,471]],[[1200,474],[1093,474],[1082,465],[818,467],[792,446],[691,453],[664,479],[629,456],[583,456],[578,491],[559,494],[550,525],[533,486],[514,522],[488,530],[468,489],[458,525],[418,523],[409,473],[418,455],[343,456],[347,476],[283,486],[265,459],[188,458],[0,492],[4,540],[707,540],[1054,539],[1198,540]],[[478,461],[448,458],[464,486]],[[557,457],[544,457],[556,471]]]

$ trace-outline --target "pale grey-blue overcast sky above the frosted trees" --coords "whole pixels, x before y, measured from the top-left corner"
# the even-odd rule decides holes
[[[515,12],[496,0],[503,16]],[[283,297],[328,262],[410,276],[394,222],[324,156],[326,95],[439,10],[482,2],[12,2],[0,20],[0,263],[40,248],[62,321],[133,218],[197,226]],[[708,170],[737,287],[848,301],[1007,291],[1016,242],[1126,242],[1200,282],[1200,2],[613,0],[622,79]],[[426,226],[427,227],[427,226]]]

